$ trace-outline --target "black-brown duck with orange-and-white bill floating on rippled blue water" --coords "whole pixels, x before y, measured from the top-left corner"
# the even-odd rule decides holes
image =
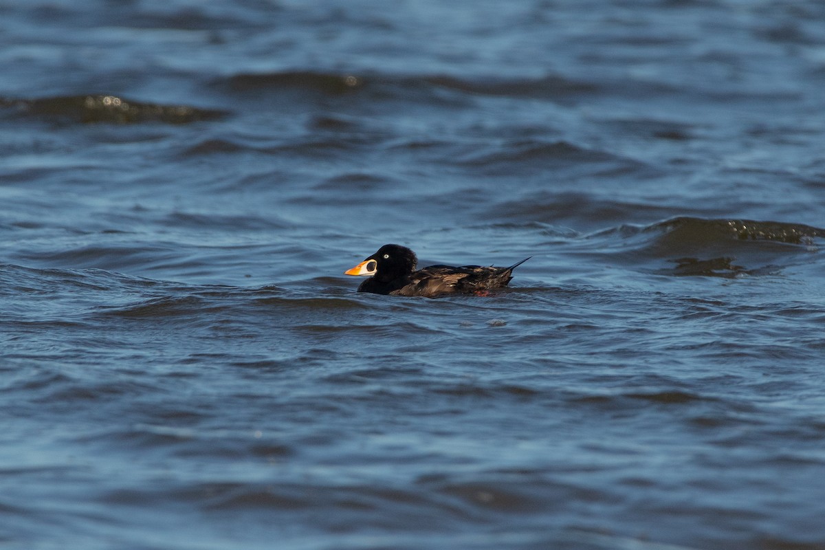
[[[385,244],[344,275],[370,277],[358,286],[358,292],[425,298],[447,294],[487,296],[489,290],[507,286],[512,270],[531,257],[510,267],[438,265],[416,270],[415,252],[398,244]]]

